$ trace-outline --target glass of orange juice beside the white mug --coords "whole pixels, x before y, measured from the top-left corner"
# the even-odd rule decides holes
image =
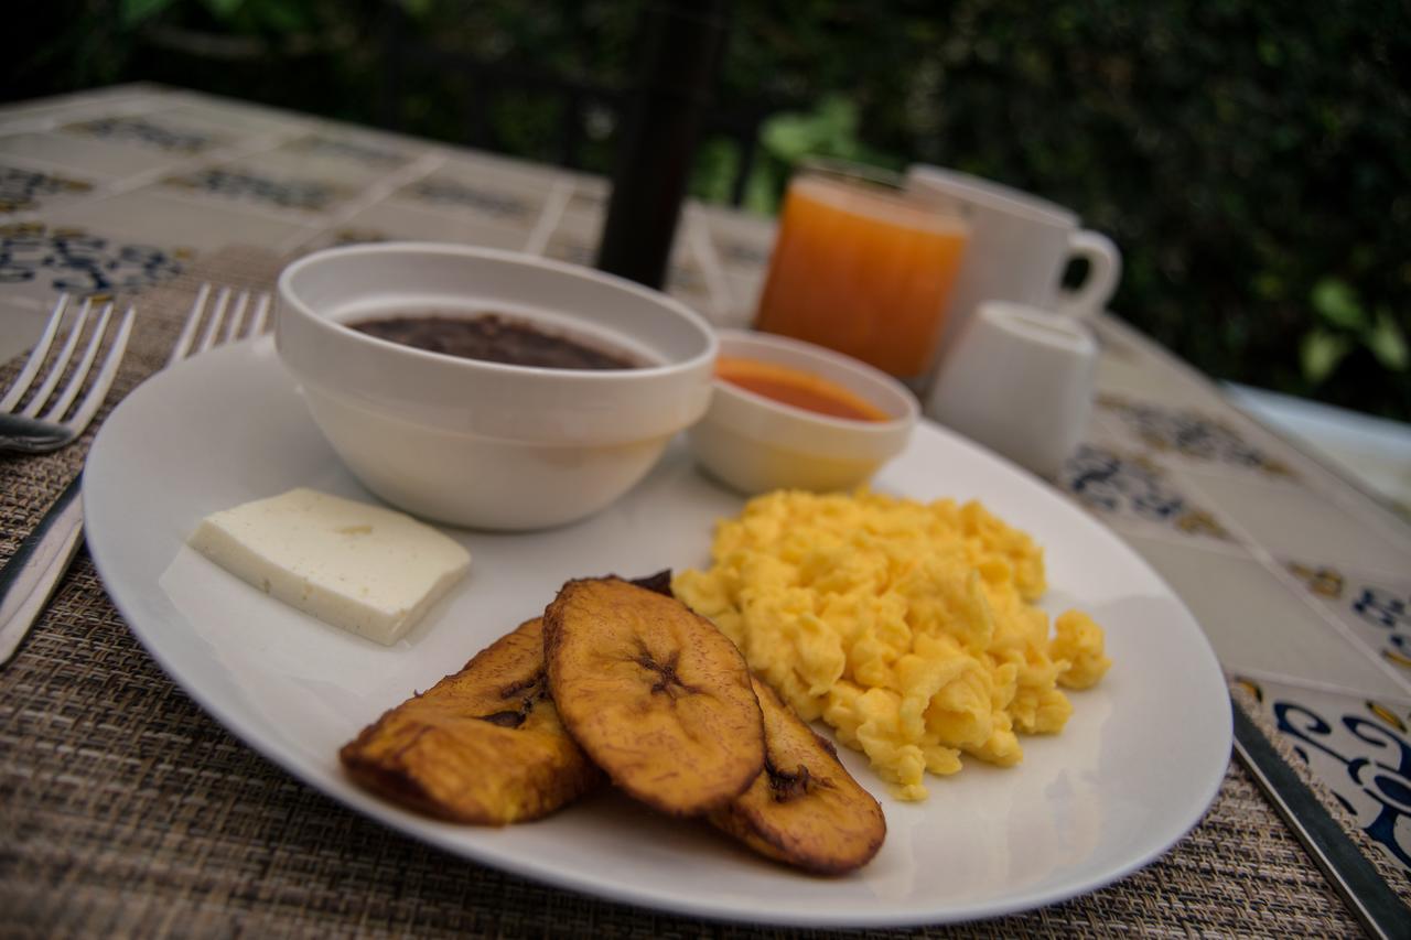
[[[920,391],[967,240],[959,215],[917,203],[900,176],[807,162],[789,182],[755,329],[847,353]]]

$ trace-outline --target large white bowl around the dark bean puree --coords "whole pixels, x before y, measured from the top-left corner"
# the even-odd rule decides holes
[[[279,356],[349,469],[392,505],[453,525],[538,529],[590,515],[710,402],[717,343],[704,319],[656,291],[536,255],[330,248],[285,268],[277,311]],[[505,366],[344,326],[432,312],[504,313],[648,366]]]

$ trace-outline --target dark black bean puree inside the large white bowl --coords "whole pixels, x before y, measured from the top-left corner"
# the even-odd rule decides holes
[[[543,368],[641,368],[619,353],[594,349],[499,313],[388,316],[349,323],[378,339],[432,353]]]

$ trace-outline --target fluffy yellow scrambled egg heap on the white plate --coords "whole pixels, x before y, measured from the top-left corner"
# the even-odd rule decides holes
[[[864,751],[902,799],[961,754],[1012,766],[1108,670],[1102,628],[1054,622],[1043,549],[979,502],[779,491],[722,521],[707,572],[672,589],[806,721]]]

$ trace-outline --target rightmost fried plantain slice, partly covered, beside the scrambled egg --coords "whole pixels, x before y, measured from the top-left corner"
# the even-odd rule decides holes
[[[707,819],[756,852],[821,875],[861,868],[882,848],[882,807],[773,689],[755,679],[765,713],[765,771]]]

